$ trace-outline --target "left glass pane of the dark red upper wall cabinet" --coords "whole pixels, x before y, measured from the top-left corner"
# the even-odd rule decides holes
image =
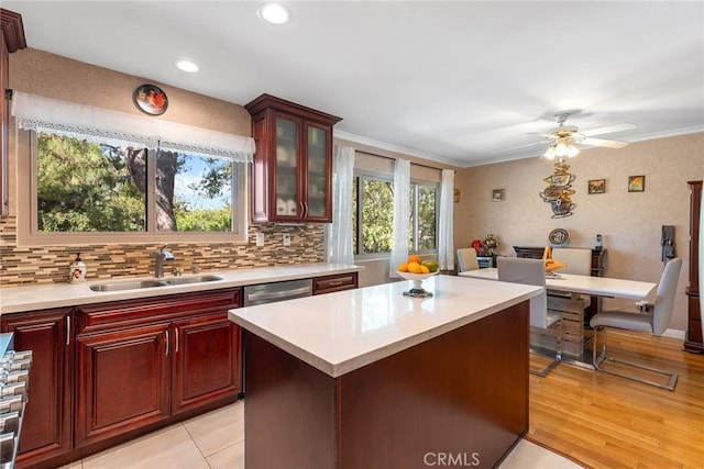
[[[293,115],[276,113],[275,118],[276,170],[274,172],[274,197],[276,220],[298,220],[302,215],[300,191],[300,129],[301,120]]]

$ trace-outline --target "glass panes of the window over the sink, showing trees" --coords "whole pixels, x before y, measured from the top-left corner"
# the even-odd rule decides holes
[[[237,234],[243,225],[244,164],[33,134],[37,234]]]

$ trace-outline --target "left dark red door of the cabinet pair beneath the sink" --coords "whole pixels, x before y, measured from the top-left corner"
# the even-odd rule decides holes
[[[76,446],[169,415],[168,323],[76,338]]]

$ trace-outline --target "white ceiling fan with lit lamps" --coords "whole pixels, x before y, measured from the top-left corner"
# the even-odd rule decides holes
[[[594,138],[595,135],[610,134],[614,132],[629,131],[636,129],[636,124],[624,122],[622,124],[606,125],[603,127],[596,127],[588,131],[580,132],[575,125],[565,125],[568,118],[579,111],[561,111],[553,114],[558,126],[547,134],[541,134],[544,139],[540,142],[534,142],[527,145],[517,146],[503,152],[514,150],[518,148],[525,148],[534,145],[548,144],[548,149],[544,156],[549,159],[556,157],[571,158],[580,153],[579,146],[598,146],[606,148],[623,148],[628,145],[628,142],[606,138]],[[502,152],[502,153],[503,153]]]

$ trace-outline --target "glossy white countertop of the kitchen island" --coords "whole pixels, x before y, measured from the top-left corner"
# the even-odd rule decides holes
[[[399,281],[285,304],[241,308],[230,310],[230,320],[339,377],[542,291],[540,287],[441,275],[422,282],[432,298],[404,297],[411,286]]]

